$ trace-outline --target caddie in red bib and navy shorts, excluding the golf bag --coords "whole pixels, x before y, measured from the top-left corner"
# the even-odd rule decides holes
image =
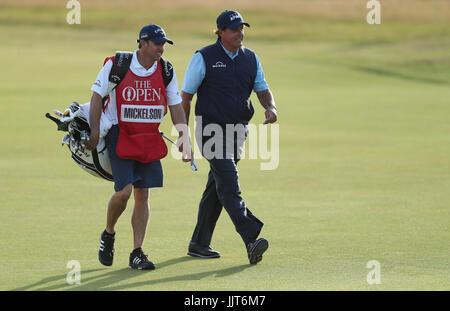
[[[111,169],[114,177],[114,190],[108,203],[106,228],[100,237],[98,258],[100,263],[111,266],[114,258],[115,225],[134,194],[134,210],[131,224],[133,228],[133,251],[129,267],[134,269],[155,269],[142,250],[150,210],[148,204],[149,188],[163,186],[163,171],[160,159],[167,155],[158,127],[167,107],[174,125],[186,126],[184,110],[175,71],[171,82],[165,87],[160,58],[165,43],[173,44],[158,25],[147,25],[139,33],[139,49],[134,51],[130,67],[122,82],[108,94],[109,73],[113,60],[109,59],[100,70],[92,86],[90,106],[89,150],[96,148],[99,139],[99,123],[102,109],[113,126],[105,137]],[[109,102],[103,107],[102,98],[109,95]],[[179,142],[184,135],[179,131]],[[183,141],[189,141],[186,133]],[[183,161],[192,159],[189,143],[180,148]]]

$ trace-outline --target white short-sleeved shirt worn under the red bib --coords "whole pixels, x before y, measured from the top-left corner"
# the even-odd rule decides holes
[[[137,51],[134,51],[133,57],[131,59],[130,70],[139,77],[148,77],[151,76],[157,66],[159,61],[155,61],[155,63],[148,70],[145,69],[137,59]],[[111,72],[113,62],[108,60],[103,68],[100,70],[97,76],[97,80],[91,87],[91,91],[99,94],[102,98],[108,95],[108,82],[109,82],[109,73]],[[170,81],[169,85],[166,87],[167,94],[167,105],[173,106],[181,103],[180,92],[178,91],[178,82],[177,75],[175,73],[175,68],[173,69],[173,78]],[[116,105],[116,92],[112,91],[109,94],[109,103],[105,109],[105,115],[112,124],[117,124],[117,105]]]

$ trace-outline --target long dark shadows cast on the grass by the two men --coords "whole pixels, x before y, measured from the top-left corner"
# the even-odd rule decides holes
[[[191,274],[185,274],[185,275],[178,275],[178,276],[172,276],[167,278],[160,278],[160,279],[151,279],[146,281],[140,281],[140,282],[134,282],[134,283],[128,283],[123,285],[116,285],[119,282],[129,281],[130,279],[142,276],[143,273],[149,273],[149,275],[157,276],[157,271],[178,263],[182,263],[185,261],[190,260],[198,260],[199,262],[202,261],[202,259],[198,258],[192,258],[192,257],[178,257],[174,259],[170,259],[164,262],[161,262],[159,264],[156,264],[156,271],[137,271],[130,268],[123,268],[120,270],[114,270],[110,271],[108,268],[99,268],[99,269],[90,269],[90,270],[82,270],[81,271],[81,284],[79,285],[69,285],[66,282],[66,276],[67,274],[61,274],[57,276],[47,277],[44,278],[38,282],[35,282],[30,285],[26,285],[23,287],[18,287],[15,289],[12,289],[11,291],[26,291],[26,290],[36,290],[36,291],[63,291],[63,290],[70,290],[70,291],[91,291],[91,290],[132,290],[135,287],[140,286],[148,286],[148,285],[154,285],[154,284],[160,284],[160,283],[166,283],[166,282],[176,282],[176,281],[192,281],[192,280],[200,280],[208,276],[216,275],[217,277],[224,277],[228,276],[234,273],[241,272],[249,267],[251,265],[240,265],[236,267],[230,267],[226,269],[221,270],[212,270],[212,271],[206,271],[206,272],[199,272],[199,273],[191,273]],[[105,273],[101,273],[99,275],[92,275],[94,272],[98,271],[105,271]],[[155,274],[156,273],[156,274]],[[63,283],[60,283],[61,280],[63,280]],[[50,285],[49,283],[57,282],[59,281],[59,284]]]

